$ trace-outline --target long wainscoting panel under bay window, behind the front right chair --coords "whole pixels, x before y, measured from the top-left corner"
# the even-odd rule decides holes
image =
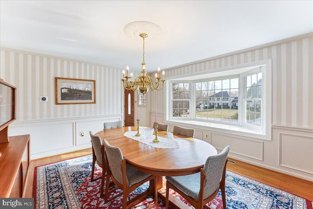
[[[263,141],[211,134],[212,145],[220,152],[230,146],[230,153],[263,161]],[[244,145],[244,146],[243,146]]]

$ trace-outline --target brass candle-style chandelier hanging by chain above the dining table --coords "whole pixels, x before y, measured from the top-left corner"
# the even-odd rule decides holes
[[[142,94],[148,92],[148,87],[152,91],[161,90],[164,87],[164,70],[162,71],[162,78],[160,77],[160,68],[157,69],[157,73],[155,74],[155,81],[153,81],[152,77],[147,76],[146,71],[146,63],[145,63],[145,38],[148,37],[146,33],[140,33],[139,36],[143,39],[143,53],[142,53],[142,63],[141,63],[141,76],[137,76],[133,81],[133,73],[129,76],[129,67],[126,68],[126,76],[125,70],[122,71],[123,78],[122,83],[125,89],[135,91],[139,87],[139,91]],[[160,83],[162,84],[160,85]]]

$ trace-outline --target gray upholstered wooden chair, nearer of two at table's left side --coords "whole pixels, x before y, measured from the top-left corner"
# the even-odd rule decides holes
[[[147,195],[154,194],[155,202],[149,207],[149,209],[154,208],[157,204],[156,175],[143,173],[135,169],[127,162],[127,159],[123,157],[122,152],[118,147],[110,145],[105,139],[103,139],[102,142],[107,157],[107,182],[109,179],[112,179],[113,183],[116,185],[116,187],[111,190],[109,186],[106,186],[104,202],[108,203],[123,194],[122,208],[129,209],[142,202]],[[134,191],[135,188],[147,181],[150,182],[149,188],[127,201],[127,196]],[[116,190],[116,188],[122,189],[123,192],[109,198],[109,194]]]

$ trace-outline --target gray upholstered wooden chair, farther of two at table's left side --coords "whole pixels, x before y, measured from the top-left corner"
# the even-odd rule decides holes
[[[104,187],[104,180],[107,173],[107,166],[106,166],[106,156],[104,153],[104,145],[102,144],[101,138],[99,136],[95,136],[91,131],[89,131],[90,138],[91,138],[91,145],[92,145],[92,169],[91,169],[91,182],[94,182],[101,178],[101,191],[100,196],[103,196],[103,187]],[[102,176],[94,179],[94,168],[95,163],[97,162],[98,166],[102,168]],[[112,182],[108,183],[112,185]]]

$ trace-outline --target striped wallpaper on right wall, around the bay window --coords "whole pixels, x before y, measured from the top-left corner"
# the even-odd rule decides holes
[[[313,33],[166,70],[166,77],[272,60],[272,125],[313,129]],[[153,93],[151,110],[165,112],[165,91]]]

